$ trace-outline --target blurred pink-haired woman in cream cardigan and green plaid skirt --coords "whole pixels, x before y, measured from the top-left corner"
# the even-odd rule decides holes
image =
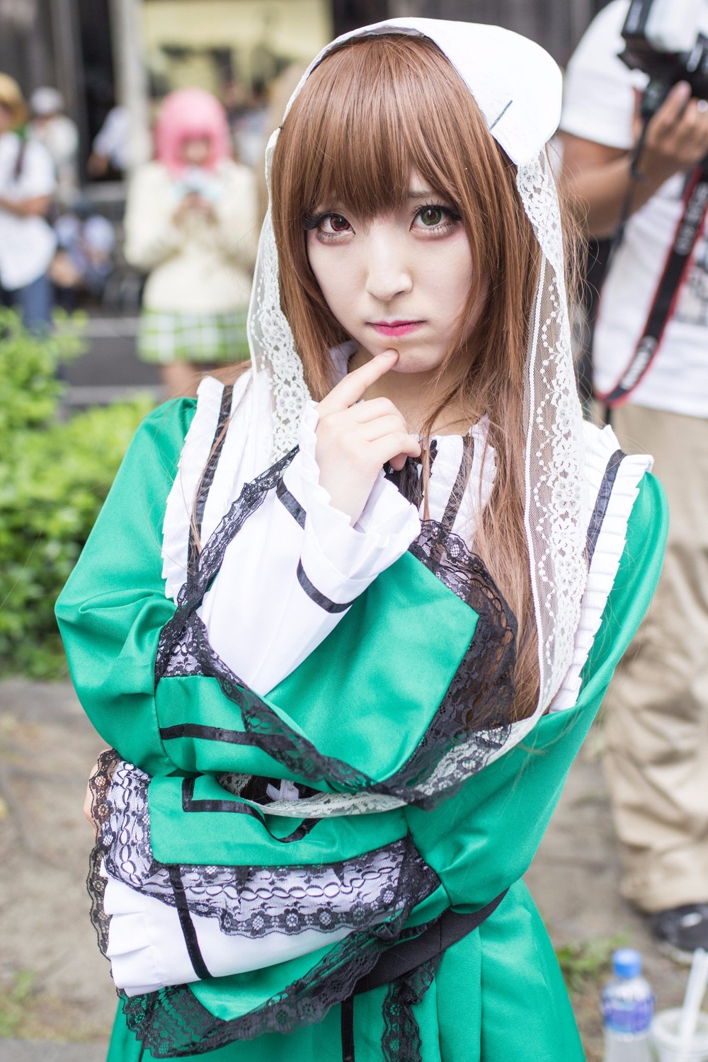
[[[125,213],[125,257],[150,272],[138,354],[161,366],[170,396],[194,394],[200,367],[248,357],[255,181],[228,157],[224,108],[203,89],[165,99],[155,155]]]

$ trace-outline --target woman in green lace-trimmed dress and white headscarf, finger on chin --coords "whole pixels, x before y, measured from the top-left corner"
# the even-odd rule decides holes
[[[110,1062],[580,1062],[521,881],[660,565],[584,425],[560,75],[394,19],[269,150],[253,369],[138,432],[57,606],[115,752]]]

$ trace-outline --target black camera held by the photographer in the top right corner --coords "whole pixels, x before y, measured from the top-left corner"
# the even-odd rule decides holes
[[[698,31],[702,6],[702,0],[632,0],[620,58],[631,70],[649,74],[640,107],[644,120],[679,81],[689,83],[696,99],[708,100],[708,37]]]

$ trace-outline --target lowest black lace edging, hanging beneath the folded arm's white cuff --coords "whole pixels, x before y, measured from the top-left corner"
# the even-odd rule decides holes
[[[412,842],[408,841],[412,846]],[[398,895],[399,911],[388,922],[355,932],[335,944],[307,974],[242,1017],[224,1021],[211,1014],[186,984],[123,999],[128,1028],[158,1059],[215,1050],[236,1040],[265,1032],[288,1034],[321,1022],[331,1007],[347,999],[357,981],[376,965],[381,953],[433,923],[403,930],[419,902],[420,883],[414,861],[404,861]]]

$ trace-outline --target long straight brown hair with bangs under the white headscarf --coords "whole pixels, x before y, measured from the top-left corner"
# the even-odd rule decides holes
[[[524,718],[535,708],[539,682],[523,526],[523,397],[540,251],[514,165],[429,39],[392,34],[347,41],[315,68],[294,101],[271,178],[282,306],[310,393],[320,400],[333,383],[328,350],[349,337],[310,269],[304,219],[331,201],[365,220],[398,209],[412,170],[460,212],[473,277],[446,359],[462,359],[462,378],[430,410],[421,434],[425,443],[453,397],[467,423],[488,415],[497,475],[474,549],[518,621],[515,716]]]

